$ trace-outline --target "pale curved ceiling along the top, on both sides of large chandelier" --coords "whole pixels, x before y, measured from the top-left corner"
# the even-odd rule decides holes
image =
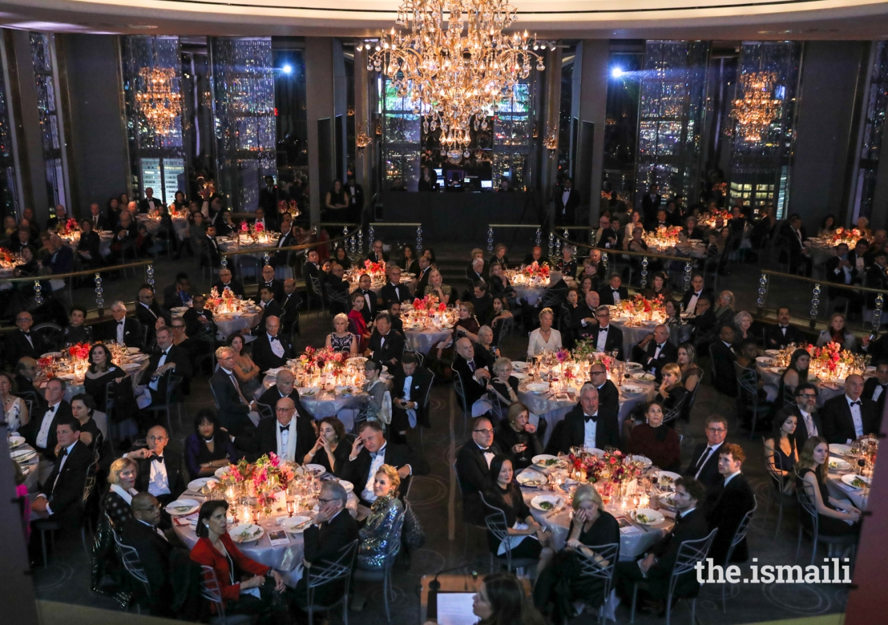
[[[546,38],[880,39],[876,0],[512,0]],[[0,0],[0,26],[83,33],[369,36],[400,0]]]

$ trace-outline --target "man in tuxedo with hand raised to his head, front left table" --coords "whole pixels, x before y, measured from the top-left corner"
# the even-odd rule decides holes
[[[404,493],[407,492],[410,476],[424,476],[429,472],[428,462],[410,451],[407,445],[385,441],[379,421],[362,421],[358,426],[358,437],[352,445],[352,453],[343,469],[343,479],[354,485],[355,495],[367,507],[377,501],[377,496],[373,494],[373,477],[384,464],[398,469],[400,488]],[[358,489],[361,489],[360,492]]]

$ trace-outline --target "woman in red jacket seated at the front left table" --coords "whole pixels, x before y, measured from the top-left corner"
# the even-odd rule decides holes
[[[281,573],[260,565],[237,549],[228,534],[227,512],[228,502],[225,500],[203,502],[197,515],[197,542],[191,549],[191,559],[199,565],[212,567],[226,615],[270,613],[272,592],[285,589]]]

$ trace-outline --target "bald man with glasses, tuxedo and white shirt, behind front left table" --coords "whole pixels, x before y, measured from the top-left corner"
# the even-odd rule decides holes
[[[312,427],[314,419],[297,416],[296,403],[289,397],[277,400],[274,416],[259,420],[252,440],[252,460],[276,453],[281,460],[301,464],[318,438]]]

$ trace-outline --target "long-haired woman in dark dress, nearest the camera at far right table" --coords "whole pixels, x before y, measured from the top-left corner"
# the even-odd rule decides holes
[[[827,462],[829,443],[821,437],[805,441],[796,464],[796,491],[804,493],[817,510],[817,525],[821,535],[844,536],[860,533],[860,510],[851,501],[829,496],[827,489]],[[809,531],[813,522],[805,510],[799,511],[799,523]]]

